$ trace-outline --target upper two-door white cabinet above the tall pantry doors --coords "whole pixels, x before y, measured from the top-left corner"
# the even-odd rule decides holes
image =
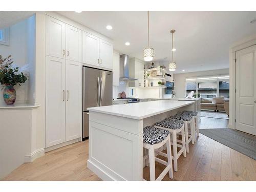
[[[81,62],[82,31],[47,15],[46,54]]]

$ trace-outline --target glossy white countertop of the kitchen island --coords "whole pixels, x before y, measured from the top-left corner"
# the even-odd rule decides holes
[[[87,110],[140,120],[158,115],[160,113],[175,110],[189,104],[194,104],[194,101],[157,100],[129,104],[97,106],[95,108],[88,108]]]

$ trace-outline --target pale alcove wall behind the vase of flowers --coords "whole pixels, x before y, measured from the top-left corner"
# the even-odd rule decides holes
[[[23,20],[15,25],[9,27],[9,45],[0,44],[0,54],[3,57],[9,55],[12,56],[14,64],[22,68],[25,65],[29,65],[29,77],[28,81],[16,85],[15,90],[17,93],[15,103],[33,103],[34,98],[34,50],[35,50],[35,17],[32,16],[28,19]],[[1,86],[2,87],[2,86]],[[2,97],[3,90],[0,93],[0,104],[4,103]]]

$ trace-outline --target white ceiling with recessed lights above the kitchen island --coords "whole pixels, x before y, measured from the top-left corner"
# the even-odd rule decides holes
[[[147,46],[146,11],[59,11],[114,40],[114,49],[143,59]],[[229,47],[233,42],[256,33],[256,12],[151,11],[150,38],[155,61],[168,66],[171,35],[176,29],[176,73],[229,68]],[[107,30],[111,25],[112,30]],[[124,42],[129,41],[130,46]],[[167,59],[164,59],[167,57]]]

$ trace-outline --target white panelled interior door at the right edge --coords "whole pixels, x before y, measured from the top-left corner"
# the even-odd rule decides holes
[[[236,129],[256,135],[256,46],[236,58]]]

